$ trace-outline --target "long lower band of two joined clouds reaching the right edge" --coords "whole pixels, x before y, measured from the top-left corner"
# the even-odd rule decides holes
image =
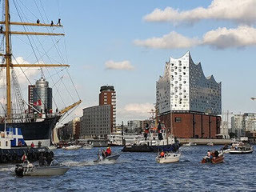
[[[218,49],[240,48],[256,46],[256,29],[250,26],[238,26],[235,29],[223,27],[217,30],[210,30],[201,39],[186,38],[182,34],[171,32],[161,38],[135,40],[134,44],[158,49],[190,48],[192,46],[212,46]]]

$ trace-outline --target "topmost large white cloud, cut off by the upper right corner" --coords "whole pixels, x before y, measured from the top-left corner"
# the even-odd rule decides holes
[[[202,19],[231,20],[238,23],[256,22],[255,0],[214,0],[207,8],[197,7],[193,10],[155,9],[147,14],[147,22],[198,22]]]

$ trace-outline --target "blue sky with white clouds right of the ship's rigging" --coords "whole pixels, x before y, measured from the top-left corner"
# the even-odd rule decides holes
[[[188,50],[206,76],[222,82],[222,110],[255,112],[255,0],[40,1],[64,26],[70,75],[83,101],[71,117],[98,105],[100,86],[111,85],[117,123],[149,118],[166,61]]]

